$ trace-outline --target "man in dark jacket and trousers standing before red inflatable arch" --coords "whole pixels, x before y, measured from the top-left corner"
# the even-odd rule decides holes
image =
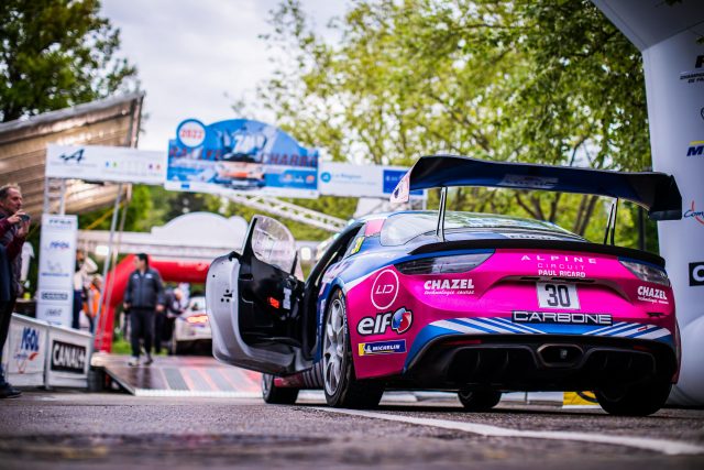
[[[148,256],[140,253],[134,258],[134,272],[130,274],[128,287],[124,291],[123,307],[130,311],[130,340],[132,342],[132,358],[130,365],[140,363],[140,338],[144,340],[146,359],[144,365],[152,362],[152,340],[154,339],[155,311],[164,310],[164,286],[156,270],[150,267]]]

